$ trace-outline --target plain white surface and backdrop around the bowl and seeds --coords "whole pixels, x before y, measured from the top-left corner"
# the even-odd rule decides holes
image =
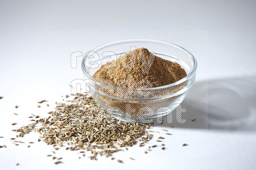
[[[4,138],[0,145],[7,149],[0,148],[0,169],[255,169],[255,7],[255,1],[1,1],[0,96],[4,98],[0,100],[0,136]],[[202,37],[196,36],[200,31],[188,31],[187,35],[179,31],[168,35],[162,31],[95,35],[67,31],[62,38],[60,34],[48,36],[54,30],[206,30],[208,57],[201,53]],[[71,53],[84,54],[103,43],[132,38],[169,41],[196,57],[203,56],[197,58],[202,64],[196,83],[209,80],[208,131],[165,127],[173,135],[156,134],[154,139],[166,136],[168,149],[154,148],[145,154],[143,147],[134,146],[114,154],[125,164],[105,157],[78,159],[77,152],[60,150],[56,154],[65,163],[54,165],[46,157],[52,146],[36,142],[27,148],[28,144],[14,146],[10,142],[9,138],[15,137],[11,129],[28,124],[30,113],[44,116],[55,101],[62,100],[61,95],[69,93],[70,81],[82,78],[81,59],[78,68],[72,69]],[[207,54],[207,49],[203,50]],[[208,67],[203,59],[208,59]],[[37,108],[36,101],[43,99],[49,100],[50,106]],[[15,122],[19,124],[12,126]],[[22,141],[36,141],[37,136],[31,134]],[[183,147],[183,143],[189,145]]]

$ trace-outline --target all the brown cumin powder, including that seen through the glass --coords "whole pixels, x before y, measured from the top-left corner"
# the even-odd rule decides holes
[[[174,97],[166,98],[165,96],[184,89],[187,82],[184,81],[168,88],[154,90],[151,90],[151,88],[174,83],[186,76],[186,71],[178,63],[157,57],[146,48],[139,48],[124,54],[111,63],[108,62],[102,65],[93,74],[96,80],[114,87],[113,89],[96,87],[99,92],[108,94],[96,93],[94,98],[109,114],[117,119],[125,120],[126,115],[131,115],[138,121],[139,111],[143,108],[150,107],[156,115],[157,109],[160,107],[174,107],[172,103],[179,102],[182,93]],[[119,90],[117,87],[119,87]],[[121,90],[120,87],[122,87]],[[123,90],[124,88],[126,91]],[[129,95],[127,95],[128,89],[131,89],[130,92],[132,92]],[[143,92],[147,92],[149,95],[141,95],[138,89],[143,89]],[[120,98],[122,99],[120,100]],[[155,100],[155,98],[157,99]],[[142,114],[144,117],[150,116],[149,112],[143,112]],[[128,118],[126,121],[132,120]]]

